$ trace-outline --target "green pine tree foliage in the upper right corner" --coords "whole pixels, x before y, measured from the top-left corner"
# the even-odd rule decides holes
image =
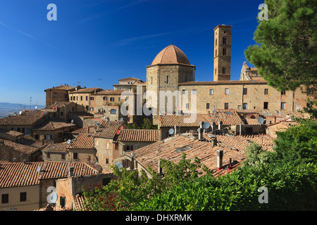
[[[268,84],[279,91],[300,84],[317,95],[316,1],[266,0],[268,20],[259,20],[254,32],[256,45],[244,51]]]

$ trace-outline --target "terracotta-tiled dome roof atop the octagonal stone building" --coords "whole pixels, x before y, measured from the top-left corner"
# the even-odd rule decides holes
[[[182,50],[178,49],[178,47],[171,44],[160,51],[159,54],[157,54],[151,65],[178,63],[190,65],[185,53],[183,53]]]

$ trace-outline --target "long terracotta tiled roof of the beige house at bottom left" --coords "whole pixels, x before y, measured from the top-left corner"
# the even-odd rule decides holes
[[[41,171],[37,172],[37,168]],[[8,162],[0,164],[0,188],[38,185],[39,179],[60,179],[68,176],[68,167],[74,167],[74,176],[92,176],[101,173],[101,167],[86,162]]]

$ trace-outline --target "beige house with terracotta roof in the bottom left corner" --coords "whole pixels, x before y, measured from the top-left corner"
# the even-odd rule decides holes
[[[58,179],[67,178],[69,167],[73,167],[73,177],[101,174],[101,167],[85,162],[1,162],[0,210],[31,211],[46,206],[48,188],[56,188]]]

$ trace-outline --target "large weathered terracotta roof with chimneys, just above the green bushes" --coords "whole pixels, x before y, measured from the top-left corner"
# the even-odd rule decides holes
[[[133,154],[135,160],[143,165],[145,168],[150,166],[154,171],[158,172],[158,162],[160,159],[178,162],[181,158],[182,152],[178,152],[177,148],[190,146],[191,148],[184,150],[187,158],[193,159],[194,156],[201,159],[201,163],[209,167],[209,169],[216,169],[216,151],[223,149],[223,167],[229,164],[232,158],[232,164],[239,163],[245,158],[245,147],[251,141],[259,143],[263,149],[271,150],[273,147],[273,139],[270,136],[227,136],[214,135],[218,141],[217,145],[211,147],[211,137],[204,134],[205,141],[198,141],[191,134],[181,134],[180,136],[157,141],[149,146],[144,146],[133,152],[126,153],[126,155]]]

